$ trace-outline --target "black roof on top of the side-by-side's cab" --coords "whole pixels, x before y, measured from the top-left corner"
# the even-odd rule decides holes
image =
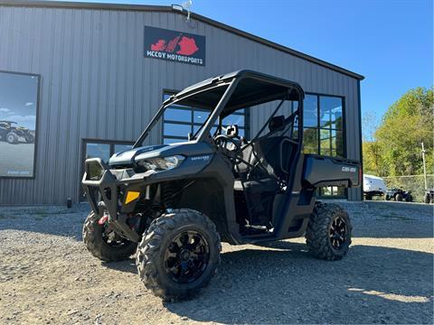
[[[270,76],[252,70],[239,70],[222,76],[210,78],[184,88],[165,101],[188,107],[213,109],[222,98],[227,85],[233,79],[239,79],[231,99],[224,107],[223,116],[230,115],[237,109],[254,107],[272,100],[304,98],[303,89],[297,82]]]

